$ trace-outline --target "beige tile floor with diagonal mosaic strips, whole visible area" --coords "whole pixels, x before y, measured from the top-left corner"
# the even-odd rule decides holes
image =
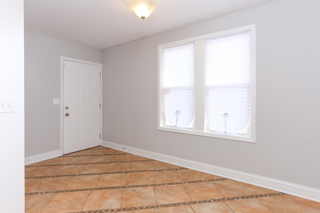
[[[25,213],[320,213],[320,203],[106,147],[25,166]]]

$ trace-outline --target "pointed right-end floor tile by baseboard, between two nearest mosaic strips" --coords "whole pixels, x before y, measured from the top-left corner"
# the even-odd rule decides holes
[[[259,195],[275,192],[272,190],[232,180],[214,181],[211,182],[211,184],[226,198],[246,195]]]

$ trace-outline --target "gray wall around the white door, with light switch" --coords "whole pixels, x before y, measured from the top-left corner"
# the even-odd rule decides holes
[[[101,63],[101,50],[24,32],[25,157],[60,149],[60,56]]]

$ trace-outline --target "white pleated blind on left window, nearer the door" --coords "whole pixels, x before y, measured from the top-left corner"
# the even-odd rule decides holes
[[[164,48],[161,99],[164,125],[192,127],[194,119],[193,43]]]

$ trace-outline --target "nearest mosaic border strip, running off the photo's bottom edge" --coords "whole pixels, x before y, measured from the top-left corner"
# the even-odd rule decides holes
[[[158,205],[140,206],[140,207],[89,210],[89,211],[73,212],[73,213],[116,213],[116,212],[130,212],[130,211],[136,211],[136,210],[154,210],[154,209],[167,208],[167,207],[179,207],[179,206],[218,203],[218,202],[235,201],[235,200],[247,200],[247,199],[265,198],[265,197],[282,196],[282,195],[286,195],[286,194],[279,192],[279,193],[268,193],[268,194],[238,196],[238,197],[229,197],[229,198],[217,198],[217,199],[189,201],[189,202],[180,202],[180,203],[171,203],[171,204],[158,204]]]

